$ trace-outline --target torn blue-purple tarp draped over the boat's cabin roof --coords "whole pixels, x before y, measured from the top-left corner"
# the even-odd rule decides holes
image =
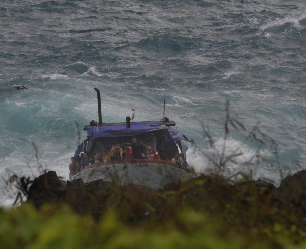
[[[139,134],[149,132],[152,130],[165,129],[167,134],[165,137],[166,142],[176,142],[176,141],[189,141],[188,138],[182,134],[180,131],[173,128],[166,128],[164,123],[161,122],[131,122],[131,127],[126,128],[126,123],[118,125],[109,125],[109,126],[90,126],[87,128],[87,134],[91,137],[89,142],[89,149],[91,148],[95,138],[100,137],[131,137],[137,136]],[[80,144],[78,149],[75,152],[75,157],[78,156],[81,152],[84,151],[86,145],[83,145],[83,142]]]

